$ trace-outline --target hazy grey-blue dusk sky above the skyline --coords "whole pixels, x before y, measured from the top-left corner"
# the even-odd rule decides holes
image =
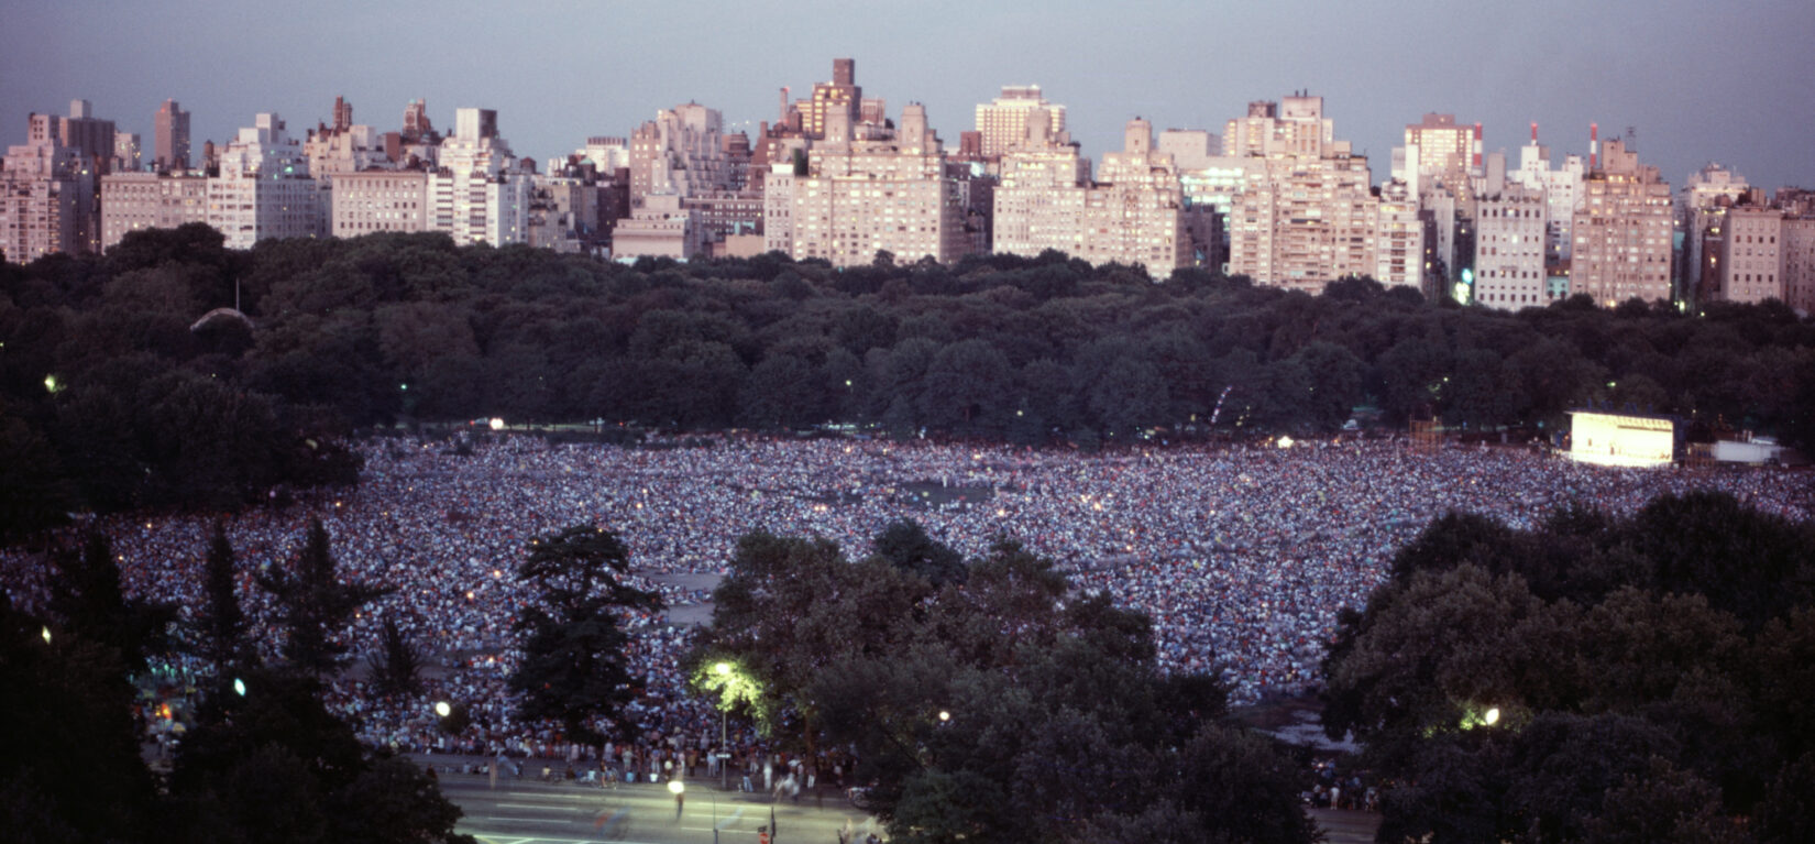
[[[1002,85],[1038,83],[1102,160],[1122,125],[1221,131],[1249,100],[1325,98],[1338,140],[1387,178],[1405,123],[1427,111],[1485,123],[1485,149],[1537,122],[1552,156],[1637,129],[1639,160],[1672,185],[1721,162],[1753,185],[1815,187],[1815,9],[1810,0],[1457,4],[1410,0],[1102,2],[205,2],[11,0],[0,27],[0,145],[27,113],[96,116],[142,134],[176,98],[196,152],[254,113],[301,134],[330,120],[401,125],[425,98],[499,113],[519,156],[544,162],[592,134],[630,134],[701,102],[751,136],[782,85],[802,96],[857,60],[866,96],[920,102],[949,147]]]

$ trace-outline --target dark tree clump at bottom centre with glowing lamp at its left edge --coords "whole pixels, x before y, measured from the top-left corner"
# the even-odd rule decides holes
[[[693,659],[782,744],[849,748],[902,842],[1309,842],[1303,770],[1162,675],[1145,615],[1002,543],[969,563],[913,523],[849,561],[746,535]],[[719,666],[726,670],[719,670]]]

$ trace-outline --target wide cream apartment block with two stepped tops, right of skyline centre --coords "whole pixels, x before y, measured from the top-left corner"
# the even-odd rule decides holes
[[[1171,152],[1153,149],[1153,125],[1134,118],[1122,152],[1104,154],[1098,182],[1038,114],[1029,140],[1002,156],[995,191],[995,250],[1036,256],[1056,249],[1091,263],[1142,265],[1163,280],[1191,263],[1185,201]],[[1044,145],[1035,145],[1036,132]]]

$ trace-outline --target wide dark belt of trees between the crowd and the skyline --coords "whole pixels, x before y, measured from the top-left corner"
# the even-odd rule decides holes
[[[245,319],[214,312],[236,301]],[[437,234],[236,252],[185,225],[0,265],[0,510],[16,514],[0,530],[345,481],[339,437],[396,419],[1042,443],[1310,434],[1358,405],[1392,425],[1554,428],[1595,401],[1815,443],[1815,323],[1779,303],[1505,314],[1369,280],[1323,296],[1196,269],[1153,283],[1058,252],[626,267]]]

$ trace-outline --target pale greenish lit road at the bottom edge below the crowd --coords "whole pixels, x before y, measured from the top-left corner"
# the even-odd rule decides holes
[[[673,795],[652,784],[599,788],[512,777],[494,791],[488,777],[445,773],[441,793],[465,811],[456,829],[483,844],[753,844],[771,810],[777,844],[835,844],[846,820],[858,831],[857,840],[869,829],[882,831],[842,799],[771,804],[768,795],[719,791],[717,780],[690,780],[679,819]]]

